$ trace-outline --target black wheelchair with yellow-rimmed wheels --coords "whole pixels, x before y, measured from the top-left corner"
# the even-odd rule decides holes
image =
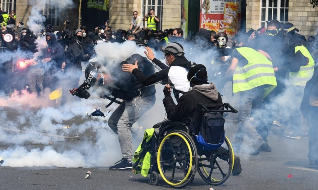
[[[202,104],[198,106],[209,112],[237,113],[229,104],[223,104],[225,110],[209,110]],[[228,179],[234,166],[234,152],[226,136],[220,147],[204,150],[198,146],[194,131],[184,123],[165,121],[156,124],[156,127],[159,131],[143,147],[151,154],[148,172],[151,185],[158,184],[159,174],[169,186],[175,188],[189,185],[196,172],[210,185],[221,185]],[[133,164],[133,171],[139,161]]]

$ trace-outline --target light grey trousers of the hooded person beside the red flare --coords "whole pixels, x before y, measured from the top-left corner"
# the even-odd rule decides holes
[[[30,92],[37,92],[35,89],[35,85],[37,84],[38,87],[43,92],[43,79],[44,79],[44,69],[43,68],[31,68],[28,72],[28,83]]]

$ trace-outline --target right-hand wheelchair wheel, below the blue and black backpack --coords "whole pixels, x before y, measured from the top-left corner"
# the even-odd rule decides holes
[[[205,182],[210,185],[221,185],[231,175],[233,165],[233,148],[225,136],[225,143],[220,148],[199,156],[197,168]]]

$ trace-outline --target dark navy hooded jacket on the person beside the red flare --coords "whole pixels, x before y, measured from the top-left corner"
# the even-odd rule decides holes
[[[51,45],[46,47],[44,58],[51,58],[51,61],[54,61],[54,66],[56,68],[59,68],[62,66],[62,63],[64,61],[63,46],[60,43],[58,43],[53,33],[49,33],[47,35],[51,37]]]

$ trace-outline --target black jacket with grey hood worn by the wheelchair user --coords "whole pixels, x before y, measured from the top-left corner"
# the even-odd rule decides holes
[[[199,103],[204,104],[210,109],[219,109],[222,106],[222,98],[220,93],[216,90],[213,83],[210,85],[205,85],[205,91],[210,91],[209,97],[205,96],[202,92],[194,90],[204,85],[196,85],[189,92],[184,93],[176,105],[173,102],[171,96],[165,96],[163,98],[163,105],[166,108],[167,117],[170,121],[181,121],[183,123],[189,124],[191,118],[193,117],[194,111]],[[211,99],[211,93],[213,94],[213,99]]]

